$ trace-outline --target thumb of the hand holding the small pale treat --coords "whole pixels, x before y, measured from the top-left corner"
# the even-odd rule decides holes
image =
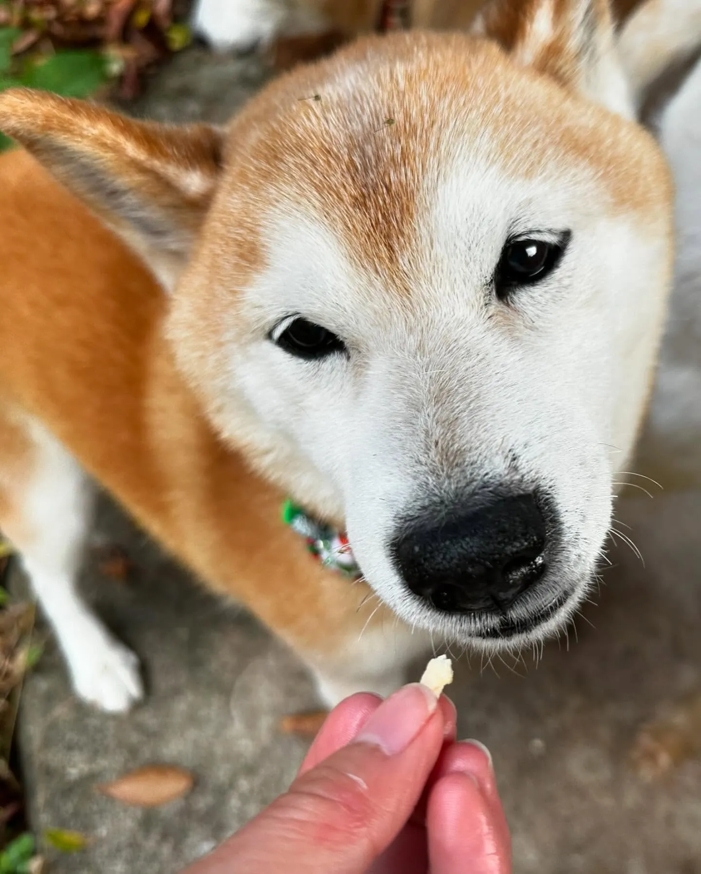
[[[443,722],[432,691],[405,686],[353,743],[184,874],[362,874],[412,814],[441,753]]]

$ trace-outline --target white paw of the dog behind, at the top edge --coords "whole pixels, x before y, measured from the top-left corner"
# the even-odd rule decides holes
[[[198,0],[192,27],[220,52],[243,51],[269,45],[287,18],[281,0]]]

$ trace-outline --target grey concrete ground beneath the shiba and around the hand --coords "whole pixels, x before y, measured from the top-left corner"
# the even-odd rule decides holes
[[[264,77],[255,59],[191,52],[138,109],[219,121]],[[569,644],[546,646],[538,666],[530,655],[482,670],[462,661],[451,690],[462,736],[494,754],[516,874],[701,874],[701,760],[680,753],[646,783],[629,758],[645,720],[701,689],[701,492],[622,502],[618,517],[645,567],[615,551]],[[20,721],[32,821],[91,837],[85,852],[55,858],[55,874],[175,874],[285,787],[304,744],[277,720],[316,702],[279,642],[195,586],[108,502],[96,531],[126,547],[135,575],[108,579],[91,553],[86,592],[142,657],[149,698],[128,718],[90,711],[49,645]],[[96,793],[154,762],[191,769],[193,792],[148,811]]]

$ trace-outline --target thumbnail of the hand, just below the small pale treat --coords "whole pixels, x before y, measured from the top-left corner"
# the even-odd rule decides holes
[[[379,705],[357,735],[356,743],[379,746],[388,756],[401,753],[438,706],[438,698],[421,683],[411,683]]]

